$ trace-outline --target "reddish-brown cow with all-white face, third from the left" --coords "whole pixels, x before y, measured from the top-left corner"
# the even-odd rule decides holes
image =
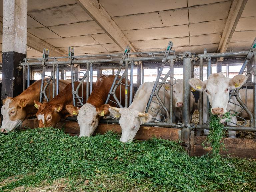
[[[114,78],[114,75],[102,75],[99,77],[90,97],[87,100],[87,103],[81,108],[74,107],[73,105],[66,106],[66,109],[70,113],[71,117],[77,115],[77,121],[80,126],[79,137],[91,136],[99,124],[100,117],[110,114],[108,110],[109,106],[116,105],[114,102],[112,102],[115,101],[112,95],[110,97],[110,100],[112,101],[109,100],[108,104],[104,104],[108,97]],[[118,78],[120,78],[120,76]],[[122,83],[125,84],[125,79],[122,80]],[[121,94],[121,104],[123,106],[125,105],[125,93],[129,93],[129,90],[129,88],[128,90],[125,90],[125,86],[121,86],[120,90],[119,85],[115,91],[117,98],[120,98]]]

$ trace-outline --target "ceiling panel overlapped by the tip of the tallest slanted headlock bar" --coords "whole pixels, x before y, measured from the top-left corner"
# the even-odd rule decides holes
[[[132,41],[132,44],[136,47],[136,49],[156,49],[166,47],[169,41],[173,42],[173,47],[189,45],[189,37]]]

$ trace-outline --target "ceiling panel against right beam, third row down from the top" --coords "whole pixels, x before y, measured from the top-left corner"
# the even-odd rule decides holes
[[[208,21],[202,23],[189,24],[189,34],[194,35],[205,35],[212,33],[222,33],[226,24],[226,19]]]

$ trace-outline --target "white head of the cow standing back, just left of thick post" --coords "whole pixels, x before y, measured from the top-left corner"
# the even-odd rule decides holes
[[[169,80],[167,80],[167,81],[169,81]],[[170,90],[170,85],[166,85],[165,89]],[[172,101],[173,101],[174,107],[182,107],[183,106],[183,79],[177,79],[176,83],[173,85],[173,100]]]

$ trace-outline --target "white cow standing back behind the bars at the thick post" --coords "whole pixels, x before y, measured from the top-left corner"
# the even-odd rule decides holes
[[[169,81],[169,80],[168,80]],[[170,82],[170,81],[169,81]],[[175,83],[175,81],[174,81]],[[166,90],[170,90],[170,85],[165,86]],[[182,107],[183,107],[183,79],[177,79],[176,83],[173,85],[173,123],[182,122]],[[196,102],[195,97],[190,92],[190,121],[192,120],[192,115],[195,111]]]

